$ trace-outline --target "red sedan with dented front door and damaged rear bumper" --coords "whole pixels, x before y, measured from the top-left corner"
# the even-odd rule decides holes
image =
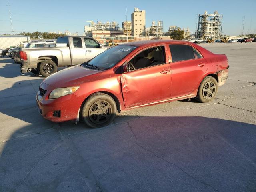
[[[36,96],[38,110],[53,122],[83,120],[97,128],[132,108],[194,97],[209,102],[228,68],[226,55],[191,42],[130,42],[46,78]]]

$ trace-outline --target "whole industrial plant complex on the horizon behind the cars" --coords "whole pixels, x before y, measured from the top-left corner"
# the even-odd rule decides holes
[[[131,21],[123,21],[118,23],[111,22],[94,22],[87,21],[90,24],[84,26],[86,36],[96,38],[100,42],[116,40],[117,42],[128,42],[136,40],[148,39],[170,39],[170,34],[176,30],[181,30],[184,35],[183,39],[201,39],[201,40],[216,40],[223,38],[222,35],[222,18],[217,11],[213,14],[198,15],[196,32],[192,33],[189,28],[179,28],[176,25],[169,26],[169,30],[164,32],[164,22],[162,20],[152,21],[150,27],[146,27],[146,11],[134,8],[131,14]]]

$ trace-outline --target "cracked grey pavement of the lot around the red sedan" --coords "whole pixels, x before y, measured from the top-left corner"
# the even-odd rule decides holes
[[[214,101],[138,108],[98,129],[44,120],[43,78],[0,58],[0,192],[255,192],[256,42],[201,46],[230,64]]]

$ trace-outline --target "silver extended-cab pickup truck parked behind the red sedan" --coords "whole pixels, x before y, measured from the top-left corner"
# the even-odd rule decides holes
[[[90,37],[59,37],[56,47],[20,49],[21,72],[40,73],[47,77],[57,72],[57,67],[82,64],[106,49]]]

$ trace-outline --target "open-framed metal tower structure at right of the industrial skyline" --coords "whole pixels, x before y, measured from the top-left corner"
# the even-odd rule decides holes
[[[198,15],[198,38],[207,40],[208,38],[220,39],[222,37],[222,15],[217,11],[214,14],[208,14],[207,11],[203,15]]]

